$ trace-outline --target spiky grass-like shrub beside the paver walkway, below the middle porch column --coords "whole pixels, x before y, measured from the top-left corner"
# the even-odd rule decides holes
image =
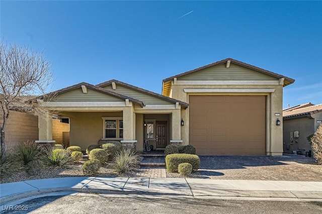
[[[123,149],[116,153],[113,168],[119,173],[130,172],[140,163],[141,156],[131,149]]]

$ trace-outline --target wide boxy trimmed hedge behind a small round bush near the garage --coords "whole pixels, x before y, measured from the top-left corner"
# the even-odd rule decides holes
[[[190,163],[193,170],[198,170],[200,158],[191,154],[170,154],[166,156],[166,166],[168,172],[178,172],[178,166],[181,163]]]

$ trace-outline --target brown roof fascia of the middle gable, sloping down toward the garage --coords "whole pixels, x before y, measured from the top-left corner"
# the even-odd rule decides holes
[[[168,96],[164,96],[162,94],[158,94],[158,93],[154,93],[152,91],[149,91],[149,90],[145,90],[143,88],[139,88],[139,87],[136,87],[134,85],[130,85],[130,84],[127,84],[125,82],[121,82],[119,80],[116,80],[116,79],[111,79],[109,81],[106,81],[106,82],[102,82],[100,84],[97,84],[96,86],[99,86],[99,87],[104,87],[106,85],[109,85],[109,84],[112,84],[112,82],[115,82],[116,84],[119,84],[119,85],[122,85],[124,87],[128,87],[128,88],[131,88],[131,89],[134,89],[134,90],[137,90],[137,91],[140,91],[140,92],[143,92],[143,93],[146,93],[146,94],[149,94],[149,95],[152,95],[152,96],[156,96],[158,98],[161,98],[161,99],[165,99],[165,100],[168,100],[170,102],[173,102],[173,103],[176,103],[176,102],[179,102],[182,106],[184,106],[185,109],[188,108],[189,104],[186,103],[186,102],[183,102],[183,101],[180,101],[180,100],[177,100],[177,99],[174,99],[174,98],[170,98]]]

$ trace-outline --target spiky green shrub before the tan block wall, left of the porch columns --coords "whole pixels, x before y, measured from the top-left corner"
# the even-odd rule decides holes
[[[33,141],[27,141],[26,143],[20,143],[17,146],[17,151],[19,157],[23,161],[25,165],[29,162],[33,161],[39,156],[39,145],[34,143]]]

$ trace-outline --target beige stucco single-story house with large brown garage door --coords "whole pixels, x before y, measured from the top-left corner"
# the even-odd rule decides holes
[[[118,140],[143,150],[171,143],[197,154],[281,155],[283,86],[294,82],[231,58],[163,80],[157,94],[118,80],[82,82],[39,102],[70,120],[70,145]],[[189,103],[189,104],[188,104]],[[279,114],[279,116],[278,116]],[[52,142],[51,123],[39,117],[39,141]]]

